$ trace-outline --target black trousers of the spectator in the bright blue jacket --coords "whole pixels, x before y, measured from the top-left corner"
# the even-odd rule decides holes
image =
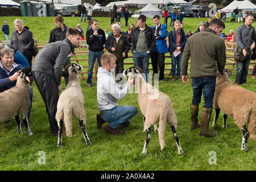
[[[163,80],[164,78],[164,53],[159,53],[158,48],[155,46],[154,51],[152,51],[151,55],[151,63],[153,68],[153,73],[158,73],[158,65],[159,65],[159,78]]]

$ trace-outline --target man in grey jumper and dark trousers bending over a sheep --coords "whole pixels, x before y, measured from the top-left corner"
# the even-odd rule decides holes
[[[51,133],[56,136],[59,127],[55,119],[57,111],[57,101],[61,90],[61,75],[67,56],[73,47],[78,47],[81,43],[82,32],[76,28],[68,28],[67,38],[63,41],[47,44],[32,64],[32,74],[36,86],[43,97],[44,104],[51,127]]]

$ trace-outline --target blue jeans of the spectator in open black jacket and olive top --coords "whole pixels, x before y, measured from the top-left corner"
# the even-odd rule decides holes
[[[139,67],[143,70],[143,78],[148,82],[149,77],[148,77],[148,62],[150,59],[150,53],[147,52],[134,52],[133,53],[133,61],[135,67]]]

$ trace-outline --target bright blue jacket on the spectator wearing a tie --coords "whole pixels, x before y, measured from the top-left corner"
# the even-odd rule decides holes
[[[156,47],[158,48],[158,52],[159,53],[166,53],[168,52],[168,47],[167,47],[167,44],[166,44],[166,31],[167,31],[167,26],[165,24],[162,24],[161,23],[161,29],[160,31],[162,32],[161,35],[158,36],[158,34],[155,34],[154,32],[154,35],[156,37]],[[154,30],[154,27],[155,26],[152,26],[152,30]]]

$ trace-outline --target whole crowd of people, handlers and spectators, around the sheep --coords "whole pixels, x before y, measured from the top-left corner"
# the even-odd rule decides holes
[[[127,9],[123,17],[126,19]],[[85,11],[82,11],[82,18]],[[238,11],[239,14],[239,11]],[[225,15],[224,15],[225,16]],[[220,16],[221,17],[221,16]],[[197,115],[201,102],[201,94],[204,92],[204,106],[202,110],[202,121],[200,134],[205,137],[214,137],[215,131],[209,130],[209,118],[207,113],[212,113],[213,94],[216,85],[217,69],[221,72],[226,62],[225,43],[220,38],[222,30],[225,28],[225,19],[208,19],[207,22],[200,22],[196,32],[192,34],[188,31],[185,34],[182,28],[183,16],[180,11],[171,14],[170,26],[173,30],[167,32],[167,20],[164,17],[164,24],[160,23],[160,16],[153,17],[154,26],[147,26],[146,16],[140,15],[136,20],[136,26],[129,24],[127,32],[123,32],[119,24],[122,14],[112,10],[110,12],[111,33],[102,30],[97,19],[88,21],[86,35],[80,24],[77,28],[68,28],[64,24],[62,16],[55,17],[56,27],[49,31],[49,44],[35,56],[32,64],[31,48],[34,44],[32,32],[24,26],[22,20],[14,21],[15,31],[11,35],[10,46],[0,46],[0,92],[15,86],[18,78],[17,71],[22,67],[32,67],[32,74],[35,84],[43,98],[47,108],[51,134],[56,136],[58,126],[55,119],[57,101],[61,91],[61,76],[65,76],[65,85],[68,84],[68,76],[63,73],[65,65],[71,63],[70,57],[74,54],[74,49],[79,47],[81,40],[86,37],[88,44],[88,78],[87,86],[93,86],[92,75],[94,63],[98,61],[100,69],[97,75],[97,101],[100,114],[97,114],[98,129],[104,122],[109,122],[105,130],[109,133],[119,135],[125,133],[118,130],[119,125],[128,126],[131,118],[137,114],[135,106],[118,106],[121,100],[129,92],[129,88],[134,85],[134,78],[123,83],[122,75],[124,60],[128,57],[131,48],[133,53],[134,66],[143,70],[144,80],[149,81],[148,64],[151,58],[153,73],[160,81],[168,81],[164,77],[164,54],[170,52],[172,60],[172,80],[182,80],[186,84],[189,82],[187,74],[188,60],[191,59],[191,77],[193,99],[191,103],[191,129],[200,127]],[[91,18],[91,17],[90,17]],[[85,19],[84,19],[85,20]],[[238,49],[242,49],[243,55],[247,59],[237,62],[237,74],[235,85],[247,85],[246,81],[251,57],[255,59],[255,29],[251,26],[254,20],[252,14],[246,14],[245,23],[237,27],[236,36],[233,30],[229,31],[228,41],[236,41]],[[114,21],[116,23],[114,23]],[[126,26],[128,25],[128,18]],[[2,31],[9,38],[9,26],[4,22]],[[250,35],[250,38],[249,36]],[[167,40],[169,46],[167,46]],[[211,40],[206,42],[205,40]],[[104,53],[104,48],[109,53]],[[253,52],[254,50],[254,52]],[[216,65],[217,63],[217,65]],[[200,65],[200,67],[198,67]],[[112,71],[115,72],[115,77]],[[158,71],[159,70],[159,71]],[[253,75],[255,78],[256,67],[254,65]],[[119,84],[117,84],[117,82]],[[110,89],[114,88],[115,91]],[[32,88],[30,86],[30,98],[32,106]],[[204,91],[203,91],[204,90]],[[30,111],[28,113],[30,116]],[[63,131],[65,134],[65,131]]]

